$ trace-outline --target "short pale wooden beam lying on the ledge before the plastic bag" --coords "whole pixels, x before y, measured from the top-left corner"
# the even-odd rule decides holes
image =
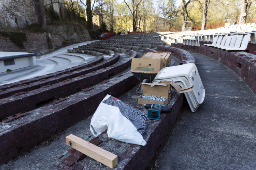
[[[70,145],[68,144],[69,142]],[[93,145],[92,143],[89,143],[75,135],[71,134],[67,136],[66,144],[110,168],[114,168],[117,165],[117,155]]]

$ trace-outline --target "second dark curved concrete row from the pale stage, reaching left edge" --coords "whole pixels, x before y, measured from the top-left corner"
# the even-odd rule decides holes
[[[115,53],[115,55],[113,57],[109,58],[108,60],[102,61],[101,63],[98,63],[95,66],[90,66],[90,67],[83,68],[80,70],[75,70],[75,71],[70,71],[68,73],[55,75],[54,77],[47,77],[47,79],[40,79],[37,82],[26,83],[26,84],[23,84],[22,86],[15,86],[12,88],[8,88],[4,91],[0,91],[0,99],[9,97],[18,92],[31,91],[34,89],[43,88],[43,87],[45,87],[45,85],[47,85],[47,86],[53,85],[53,84],[59,83],[63,80],[73,79],[73,78],[79,77],[81,75],[88,74],[92,71],[96,71],[96,70],[108,67],[108,66],[116,63],[118,60],[119,60],[119,54]]]

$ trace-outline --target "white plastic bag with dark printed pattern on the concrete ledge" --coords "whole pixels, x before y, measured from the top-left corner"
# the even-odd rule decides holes
[[[145,146],[147,123],[145,113],[106,95],[91,118],[90,130],[96,137],[108,129],[110,138]]]

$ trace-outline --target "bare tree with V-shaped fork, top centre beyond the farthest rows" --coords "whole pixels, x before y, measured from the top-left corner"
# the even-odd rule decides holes
[[[129,10],[131,12],[131,15],[132,15],[132,29],[133,29],[133,31],[137,30],[138,9],[139,9],[139,5],[140,5],[141,1],[142,0],[130,0],[129,4],[125,1],[125,4],[129,8]]]

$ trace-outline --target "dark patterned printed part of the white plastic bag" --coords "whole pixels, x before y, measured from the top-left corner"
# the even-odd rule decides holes
[[[109,97],[108,99],[104,100],[103,103],[118,107],[122,115],[126,117],[135,126],[143,138],[145,138],[148,119],[144,112],[141,112],[138,109],[131,107],[130,105],[113,97]]]

